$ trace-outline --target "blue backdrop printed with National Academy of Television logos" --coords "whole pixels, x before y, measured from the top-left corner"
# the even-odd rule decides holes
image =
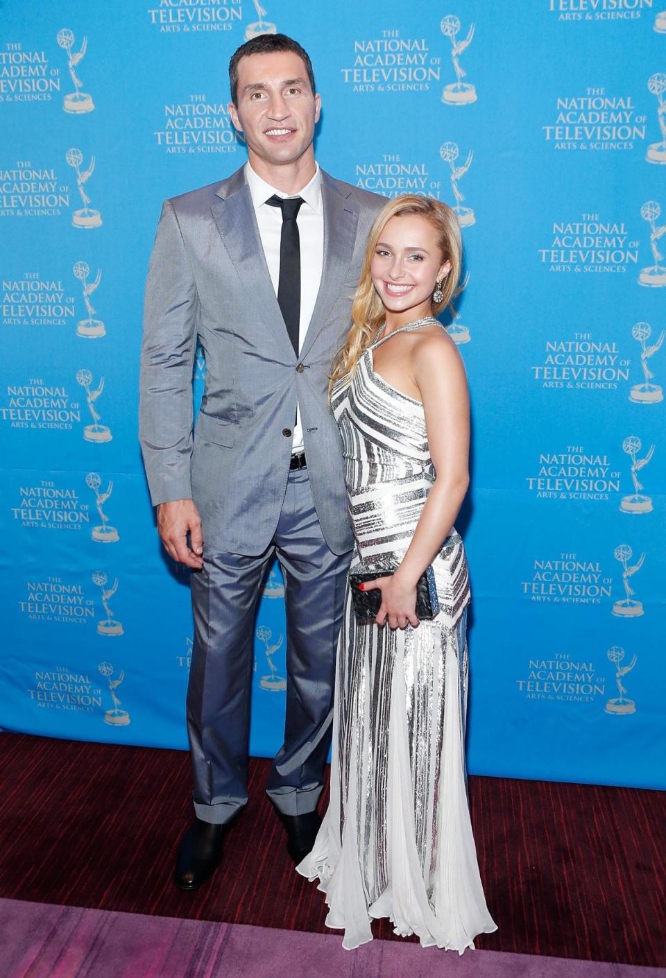
[[[469,770],[666,787],[666,0],[262,4],[2,5],[0,726],[187,745],[143,288],[161,201],[244,163],[230,55],[279,30],[314,62],[324,168],[463,226]],[[254,636],[250,750],[272,754],[279,568]]]

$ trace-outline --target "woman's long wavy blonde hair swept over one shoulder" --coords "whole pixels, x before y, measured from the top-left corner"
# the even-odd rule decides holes
[[[463,264],[463,244],[458,220],[451,207],[442,203],[441,200],[417,197],[416,194],[404,194],[402,197],[388,200],[377,214],[368,236],[368,244],[366,244],[363,265],[361,266],[361,277],[351,305],[351,329],[347,333],[344,345],[333,360],[333,373],[329,390],[333,388],[336,380],[346,377],[347,374],[354,371],[359,358],[375,339],[377,330],[384,320],[386,311],[373,285],[370,266],[373,263],[379,235],[383,231],[384,225],[391,217],[403,217],[407,214],[421,214],[430,222],[439,235],[437,244],[439,244],[442,252],[442,264],[445,261],[451,262],[451,271],[442,286],[444,293],[442,300],[432,303],[432,315],[437,316],[442,309],[450,306],[451,300],[460,291],[458,283]],[[456,311],[453,306],[450,306],[450,311],[455,318]]]

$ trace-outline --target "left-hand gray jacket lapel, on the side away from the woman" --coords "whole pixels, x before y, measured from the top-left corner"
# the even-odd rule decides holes
[[[292,358],[293,347],[271,282],[243,168],[225,180],[216,193],[220,200],[210,209],[239,280],[259,319]]]

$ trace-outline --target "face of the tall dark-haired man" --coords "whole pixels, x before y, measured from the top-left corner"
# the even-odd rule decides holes
[[[312,146],[321,100],[310,89],[305,65],[291,51],[247,55],[238,66],[238,109],[229,114],[247,150],[264,162],[292,163]]]

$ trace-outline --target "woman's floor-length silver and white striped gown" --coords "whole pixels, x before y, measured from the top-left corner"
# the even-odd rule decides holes
[[[435,477],[422,404],[375,374],[373,348],[332,398],[344,442],[352,570],[398,566]],[[327,925],[344,928],[347,949],[373,939],[373,917],[389,917],[396,933],[416,933],[424,946],[460,954],[473,948],[476,934],[496,929],[466,798],[469,582],[455,530],[433,569],[441,610],[416,629],[357,624],[347,585],[331,802],[312,852],[297,867],[319,879]]]

